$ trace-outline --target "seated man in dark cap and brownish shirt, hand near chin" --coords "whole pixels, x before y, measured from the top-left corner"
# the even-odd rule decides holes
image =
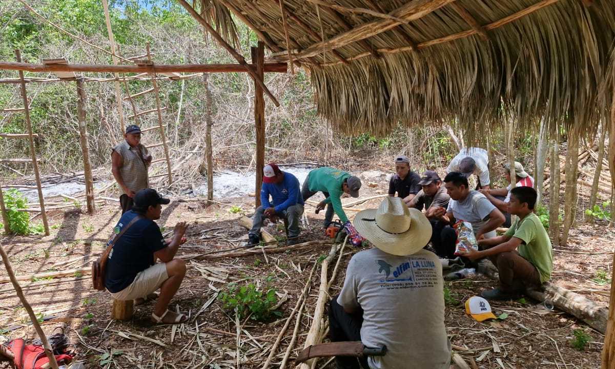
[[[423,173],[419,185],[423,187],[416,196],[408,202],[408,207],[417,208],[423,210],[425,208],[425,216],[431,223],[431,244],[434,247],[435,253],[441,258],[447,258],[448,253],[445,252],[445,248],[442,245],[442,229],[445,227],[450,228],[450,225],[446,221],[440,220],[438,216],[435,216],[437,208],[448,208],[448,200],[450,196],[446,193],[445,186],[442,186],[442,180],[438,173],[433,170],[427,170]]]

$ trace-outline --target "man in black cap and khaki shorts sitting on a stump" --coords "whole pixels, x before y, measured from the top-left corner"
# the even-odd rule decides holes
[[[135,194],[132,210],[124,213],[114,229],[121,233],[122,227],[130,227],[116,240],[106,264],[105,287],[116,300],[155,298],[154,291],[160,288],[152,320],[155,323],[177,324],[188,320],[184,314],[167,310],[171,298],[180,288],[186,274],[186,263],[175,258],[185,239],[186,222],[175,224],[173,237],[165,240],[158,224],[161,204],[169,199],[161,197],[151,188]],[[135,217],[137,221],[131,223]],[[162,263],[157,263],[160,259]]]

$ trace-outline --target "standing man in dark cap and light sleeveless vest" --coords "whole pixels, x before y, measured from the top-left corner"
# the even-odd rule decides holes
[[[122,214],[132,208],[135,194],[148,188],[148,167],[152,161],[148,149],[141,145],[141,129],[138,125],[126,127],[124,138],[111,151],[111,173],[119,186]]]

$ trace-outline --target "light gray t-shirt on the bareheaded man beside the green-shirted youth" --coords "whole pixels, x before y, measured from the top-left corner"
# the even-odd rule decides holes
[[[489,221],[489,215],[496,208],[491,201],[482,193],[472,189],[466,199],[457,201],[451,199],[448,202],[446,212],[453,213],[456,220],[469,221],[472,223],[474,234],[483,228]],[[485,238],[496,236],[496,231],[485,233]]]

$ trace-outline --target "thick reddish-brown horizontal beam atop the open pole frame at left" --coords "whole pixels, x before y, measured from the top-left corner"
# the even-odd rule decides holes
[[[253,68],[250,65],[250,68]],[[0,70],[27,72],[91,72],[91,73],[246,73],[242,64],[177,64],[177,65],[104,65],[104,64],[55,64],[41,65],[29,63],[0,62]],[[266,63],[265,73],[286,73],[286,63]],[[249,72],[248,72],[249,73]]]

